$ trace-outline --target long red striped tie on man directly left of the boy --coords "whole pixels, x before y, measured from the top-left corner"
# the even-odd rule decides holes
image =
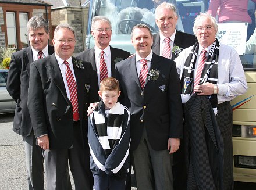
[[[67,87],[69,87],[70,102],[72,103],[72,107],[73,107],[73,120],[77,121],[79,120],[79,113],[78,113],[76,81],[74,80],[74,76],[69,67],[69,63],[65,60],[63,64],[66,65],[66,80],[67,80]]]

